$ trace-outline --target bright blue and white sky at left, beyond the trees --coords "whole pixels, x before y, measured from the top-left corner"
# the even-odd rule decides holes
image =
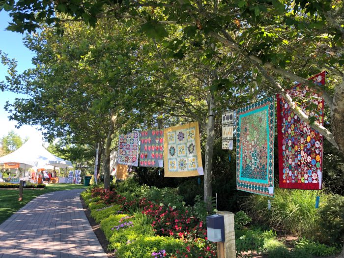
[[[34,57],[34,53],[24,46],[23,34],[5,30],[9,21],[8,13],[3,10],[0,11],[0,50],[8,54],[9,58],[15,58],[18,62],[18,72],[23,72],[33,67],[31,58]],[[7,68],[0,64],[0,81],[5,80]],[[4,110],[6,101],[13,103],[16,97],[23,96],[26,97],[22,94],[0,91],[0,138],[7,135],[11,130],[15,131],[22,138],[41,136],[38,130],[29,125],[23,125],[20,129],[16,129],[15,125],[17,122],[9,121],[8,119],[8,113]]]

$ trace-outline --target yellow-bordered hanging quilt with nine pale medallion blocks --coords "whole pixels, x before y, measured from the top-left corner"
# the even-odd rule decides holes
[[[203,174],[198,122],[165,128],[164,158],[165,176]]]

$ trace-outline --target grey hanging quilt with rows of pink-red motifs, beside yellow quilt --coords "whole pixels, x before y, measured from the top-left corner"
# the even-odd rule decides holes
[[[164,167],[164,130],[142,131],[140,141],[140,166]]]

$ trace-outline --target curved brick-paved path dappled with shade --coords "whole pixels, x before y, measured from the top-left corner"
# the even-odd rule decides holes
[[[3,222],[0,258],[106,258],[83,210],[82,191],[41,195]]]

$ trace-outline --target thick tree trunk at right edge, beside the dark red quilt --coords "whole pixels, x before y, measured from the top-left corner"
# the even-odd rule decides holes
[[[344,78],[342,84],[335,88],[332,111],[332,133],[339,150],[344,154]]]

